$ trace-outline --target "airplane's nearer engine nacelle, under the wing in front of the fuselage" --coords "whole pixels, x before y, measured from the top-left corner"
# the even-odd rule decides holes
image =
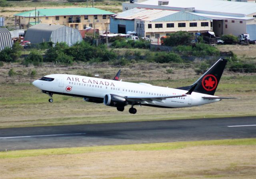
[[[104,104],[106,106],[121,107],[126,106],[128,103],[126,101],[126,98],[124,98],[123,96],[118,96],[115,94],[106,94],[104,96]]]

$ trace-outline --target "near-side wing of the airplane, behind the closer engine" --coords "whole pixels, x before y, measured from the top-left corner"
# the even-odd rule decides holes
[[[176,98],[176,97],[183,97],[187,96],[186,94],[177,94],[172,96],[125,96],[126,100],[132,101],[132,102],[140,102],[140,103],[153,103],[155,104],[155,101],[165,103],[164,100],[166,98]]]

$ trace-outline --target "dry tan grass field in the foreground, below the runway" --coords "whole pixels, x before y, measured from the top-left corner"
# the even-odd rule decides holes
[[[256,139],[0,152],[1,179],[254,179]]]

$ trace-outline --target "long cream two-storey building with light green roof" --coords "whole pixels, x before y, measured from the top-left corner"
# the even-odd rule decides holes
[[[44,23],[64,25],[78,30],[93,27],[102,31],[109,26],[109,16],[112,14],[114,13],[98,8],[59,8],[31,10],[14,16],[15,26],[20,29]]]

